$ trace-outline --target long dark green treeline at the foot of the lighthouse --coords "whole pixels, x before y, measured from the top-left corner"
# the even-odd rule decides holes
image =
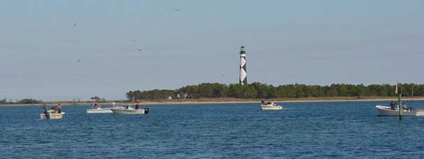
[[[402,95],[424,96],[424,84],[402,84]],[[161,100],[167,98],[310,98],[310,97],[369,97],[397,96],[395,85],[390,84],[331,84],[330,86],[285,84],[273,86],[254,82],[252,84],[203,83],[183,86],[180,89],[155,89],[150,91],[129,91],[128,100]]]

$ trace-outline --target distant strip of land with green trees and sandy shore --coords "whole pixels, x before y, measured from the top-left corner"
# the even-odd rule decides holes
[[[424,84],[402,84],[404,100],[424,100]],[[414,92],[412,92],[414,91]],[[202,83],[183,86],[180,89],[154,89],[149,91],[128,91],[127,100],[107,100],[94,96],[91,100],[43,101],[23,99],[0,100],[0,105],[37,104],[92,104],[92,103],[136,103],[150,104],[190,104],[190,103],[259,103],[261,100],[276,102],[317,102],[317,101],[369,101],[397,99],[395,86],[390,84],[331,84],[306,85],[285,84],[273,86],[253,82],[252,84]]]

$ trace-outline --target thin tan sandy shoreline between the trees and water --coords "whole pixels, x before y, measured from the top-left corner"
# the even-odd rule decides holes
[[[236,99],[236,98],[223,98],[223,99],[198,99],[198,100],[159,100],[159,101],[140,101],[140,105],[195,105],[195,104],[236,104],[236,103],[260,103],[264,101],[274,101],[274,103],[323,103],[323,102],[370,102],[370,101],[390,101],[397,100],[397,98],[290,98],[290,99]],[[410,101],[409,98],[404,98],[404,101]],[[412,99],[424,100],[424,97],[418,97]],[[71,101],[60,101],[60,102],[46,102],[46,105],[92,105],[95,102],[71,102]],[[100,105],[111,105],[113,101],[99,102]],[[129,102],[118,102],[119,105],[134,105]],[[0,105],[0,107],[13,107],[13,106],[41,106],[43,104],[6,104]]]

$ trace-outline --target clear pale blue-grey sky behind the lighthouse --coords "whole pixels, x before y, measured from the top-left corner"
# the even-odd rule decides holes
[[[0,0],[0,98],[121,100],[129,90],[238,83],[241,45],[248,82],[423,84],[423,8],[414,0]]]

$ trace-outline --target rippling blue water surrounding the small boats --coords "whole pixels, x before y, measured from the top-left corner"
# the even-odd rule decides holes
[[[70,105],[62,120],[0,107],[0,158],[423,158],[424,117],[376,116],[386,103],[148,105],[144,115]]]

